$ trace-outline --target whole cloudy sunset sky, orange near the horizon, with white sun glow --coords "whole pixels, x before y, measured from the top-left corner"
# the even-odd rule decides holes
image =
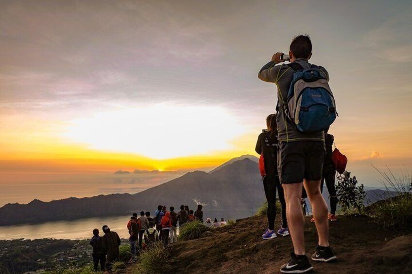
[[[371,182],[370,162],[411,166],[411,13],[408,1],[1,2],[0,176],[15,177],[0,183],[255,154],[276,104],[257,72],[300,33],[329,72],[348,168]]]

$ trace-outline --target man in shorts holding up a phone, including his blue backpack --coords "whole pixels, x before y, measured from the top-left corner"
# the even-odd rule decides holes
[[[280,272],[306,273],[311,271],[313,267],[306,257],[303,234],[305,219],[300,204],[303,185],[313,208],[319,236],[312,260],[331,261],[337,258],[329,247],[327,205],[320,192],[325,157],[323,131],[336,118],[336,109],[327,83],[329,76],[326,69],[308,62],[312,55],[309,35],[294,37],[290,45],[289,55],[291,64],[276,65],[285,62],[284,59],[287,59],[288,56],[284,58],[282,52],[275,53],[272,61],[259,71],[258,78],[262,81],[275,83],[278,89],[278,107],[276,107],[278,110],[276,115],[277,138],[279,140],[277,167],[280,183],[285,192],[286,213],[294,248],[291,260],[281,267]],[[302,69],[305,69],[306,73],[303,73]],[[297,81],[296,84],[294,84],[295,81]],[[290,89],[291,96],[289,98],[291,100],[287,101]],[[318,103],[314,103],[315,101]],[[324,111],[320,111],[321,108]]]

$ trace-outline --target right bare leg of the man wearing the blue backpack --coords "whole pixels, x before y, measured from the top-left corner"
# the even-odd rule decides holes
[[[329,223],[327,220],[327,204],[320,191],[320,185],[321,180],[304,180],[304,187],[308,193],[310,204],[312,205],[313,218],[315,219],[316,230],[318,231],[318,244],[326,247],[329,246]]]

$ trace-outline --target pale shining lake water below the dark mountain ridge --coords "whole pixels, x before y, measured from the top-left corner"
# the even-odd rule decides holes
[[[116,231],[120,238],[128,238],[129,233],[126,224],[129,219],[130,215],[48,222],[35,225],[0,226],[0,240],[19,238],[85,239],[91,238],[94,228],[102,231],[103,225],[107,225],[111,230]]]

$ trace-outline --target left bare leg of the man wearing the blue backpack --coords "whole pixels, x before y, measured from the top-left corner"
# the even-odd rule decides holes
[[[289,233],[291,234],[294,253],[305,255],[305,238],[303,228],[305,219],[303,217],[300,198],[302,197],[302,183],[282,184],[285,191],[286,217],[288,220]]]

